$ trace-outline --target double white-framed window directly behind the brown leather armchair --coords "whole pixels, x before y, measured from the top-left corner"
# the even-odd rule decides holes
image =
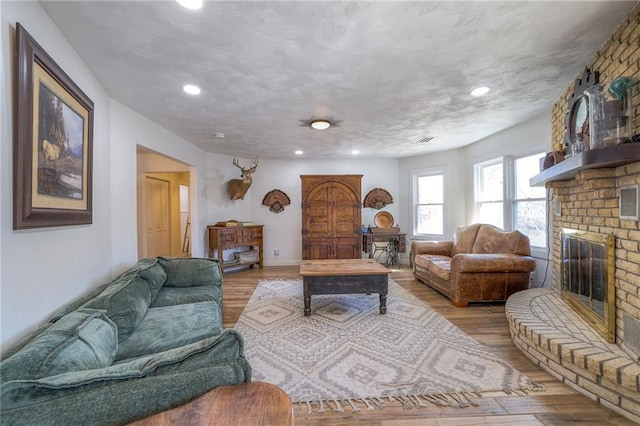
[[[532,247],[547,245],[546,190],[529,186],[544,153],[504,157],[475,165],[475,222],[527,235]]]

